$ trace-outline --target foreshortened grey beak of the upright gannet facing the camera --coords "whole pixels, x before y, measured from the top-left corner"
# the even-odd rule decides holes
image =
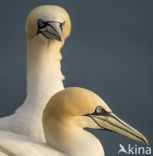
[[[62,29],[65,22],[60,23],[56,21],[44,22],[41,19],[38,20],[38,32],[41,33],[47,39],[56,39],[62,41]]]

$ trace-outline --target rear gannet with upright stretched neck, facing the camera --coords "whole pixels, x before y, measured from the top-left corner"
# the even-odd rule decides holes
[[[64,88],[60,49],[70,30],[69,15],[61,7],[40,6],[29,14],[26,21],[27,97],[15,114],[0,119],[1,130],[45,141],[42,112],[50,97]]]

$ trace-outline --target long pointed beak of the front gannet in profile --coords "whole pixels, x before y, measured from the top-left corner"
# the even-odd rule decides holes
[[[135,141],[148,144],[147,139],[136,129],[122,121],[115,114],[106,112],[104,115],[89,115],[101,128],[124,135]]]

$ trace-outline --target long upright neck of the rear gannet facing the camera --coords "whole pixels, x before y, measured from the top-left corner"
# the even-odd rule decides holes
[[[42,113],[53,94],[62,90],[64,76],[61,73],[62,44],[39,37],[27,41],[27,97],[19,110]]]

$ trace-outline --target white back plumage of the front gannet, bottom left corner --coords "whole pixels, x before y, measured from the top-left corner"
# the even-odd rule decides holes
[[[26,136],[0,130],[0,156],[62,156],[55,149]],[[3,154],[3,155],[2,155]]]

